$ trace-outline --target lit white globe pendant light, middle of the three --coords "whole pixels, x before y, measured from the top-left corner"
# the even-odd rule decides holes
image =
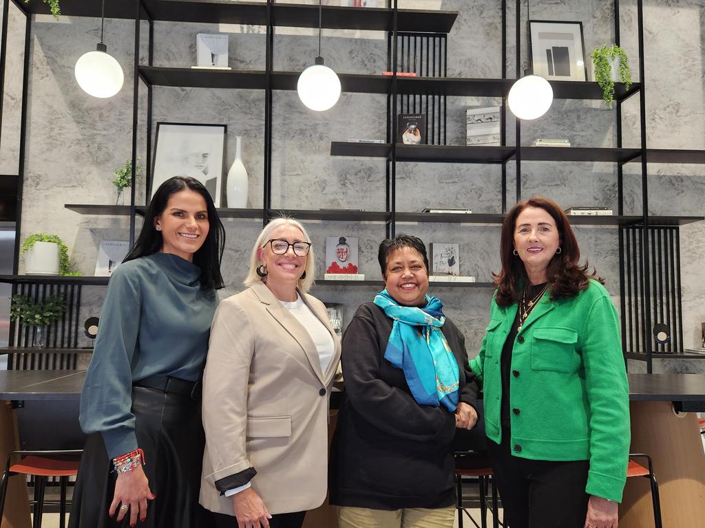
[[[318,56],[315,64],[301,72],[296,83],[299,99],[311,110],[322,112],[332,108],[341,96],[341,80],[321,56],[321,0],[318,1]]]

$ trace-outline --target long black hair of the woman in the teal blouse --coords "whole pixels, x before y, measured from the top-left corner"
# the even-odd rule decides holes
[[[221,289],[225,286],[220,272],[220,263],[225,249],[225,228],[218,216],[211,195],[201,182],[192,177],[174,176],[159,186],[145,212],[145,222],[142,224],[140,237],[137,238],[135,245],[123,262],[152,255],[152,253],[161,250],[164,240],[161,237],[161,231],[154,229],[154,219],[164,213],[172,194],[187,189],[203,196],[208,210],[210,227],[207,237],[200,249],[193,254],[193,263],[201,268],[201,289]]]

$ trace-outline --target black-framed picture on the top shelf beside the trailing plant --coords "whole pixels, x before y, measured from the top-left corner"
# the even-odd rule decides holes
[[[534,75],[552,81],[587,81],[582,22],[529,20]]]

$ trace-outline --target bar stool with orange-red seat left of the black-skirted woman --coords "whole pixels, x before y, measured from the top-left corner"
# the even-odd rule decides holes
[[[66,487],[68,477],[78,474],[78,465],[82,449],[70,451],[13,451],[7,458],[5,471],[0,481],[0,524],[5,509],[8,479],[13,475],[32,475],[35,477],[34,520],[33,528],[42,526],[42,509],[44,508],[44,491],[49,477],[59,477],[61,483],[61,501],[59,501],[59,527],[66,527]],[[16,464],[11,464],[14,456],[23,456]]]

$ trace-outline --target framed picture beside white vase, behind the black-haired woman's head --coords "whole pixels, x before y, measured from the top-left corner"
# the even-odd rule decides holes
[[[150,198],[169,178],[190,176],[204,184],[220,207],[227,131],[227,125],[158,122]]]

